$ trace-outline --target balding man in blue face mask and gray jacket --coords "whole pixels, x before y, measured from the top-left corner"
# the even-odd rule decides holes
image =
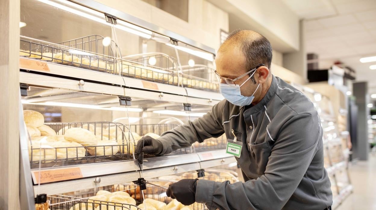
[[[138,159],[143,152],[163,155],[223,133],[230,143],[242,144],[235,158],[245,183],[183,179],[170,185],[168,196],[209,209],[331,209],[320,118],[305,95],[271,74],[271,58],[264,36],[233,32],[215,59],[226,100],[157,140],[138,142]]]

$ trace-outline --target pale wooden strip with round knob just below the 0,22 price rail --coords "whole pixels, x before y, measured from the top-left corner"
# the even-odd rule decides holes
[[[124,95],[124,88],[121,87],[89,82],[85,82],[85,85],[79,86],[78,82],[78,80],[62,79],[59,77],[20,72],[20,83],[26,83],[29,85],[62,88],[72,91],[84,91],[98,94]]]

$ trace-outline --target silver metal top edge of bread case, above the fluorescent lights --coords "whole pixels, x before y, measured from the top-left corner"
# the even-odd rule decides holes
[[[214,48],[200,44],[199,42],[196,42],[192,39],[186,38],[185,36],[182,36],[182,35],[179,35],[177,33],[171,32],[169,30],[163,29],[162,27],[159,27],[155,24],[149,23],[147,21],[136,18],[132,15],[118,11],[117,9],[114,9],[114,8],[109,7],[109,6],[103,5],[101,3],[95,2],[94,0],[70,0],[70,1],[79,3],[80,5],[87,6],[91,9],[95,9],[95,10],[103,12],[103,13],[108,13],[110,15],[114,15],[115,17],[120,18],[121,20],[127,21],[129,23],[133,23],[137,26],[143,27],[143,28],[151,30],[153,32],[168,36],[170,38],[184,42],[185,44],[191,45],[193,47],[200,48],[202,50],[205,50],[205,51],[215,55]]]

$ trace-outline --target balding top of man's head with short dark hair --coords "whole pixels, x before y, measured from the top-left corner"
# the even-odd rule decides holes
[[[272,48],[268,39],[251,30],[235,30],[223,42],[218,52],[224,53],[234,49],[240,50],[244,55],[247,71],[264,64],[271,65]]]

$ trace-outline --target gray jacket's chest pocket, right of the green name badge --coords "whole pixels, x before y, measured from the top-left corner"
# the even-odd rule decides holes
[[[263,142],[261,144],[255,144],[253,142],[251,145],[251,154],[255,158],[257,164],[257,173],[264,174],[266,165],[268,164],[269,156],[271,154],[271,149],[268,142]]]

